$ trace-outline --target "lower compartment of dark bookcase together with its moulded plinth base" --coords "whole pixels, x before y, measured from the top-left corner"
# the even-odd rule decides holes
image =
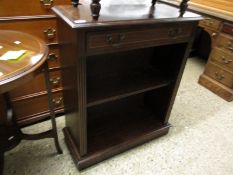
[[[73,133],[69,132],[68,127],[64,130],[67,145],[78,168],[89,167],[131,147],[166,134],[170,125],[164,122],[166,115],[164,109],[166,108],[163,106],[170,99],[168,95],[165,95],[165,92],[169,92],[168,90],[169,87],[164,87],[88,107],[87,153],[85,155],[79,155],[79,149],[71,136]]]

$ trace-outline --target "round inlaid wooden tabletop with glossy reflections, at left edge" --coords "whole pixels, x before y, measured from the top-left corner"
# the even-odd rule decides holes
[[[16,31],[0,31],[0,43],[3,47],[0,49],[1,56],[9,50],[27,50],[20,61],[13,61],[14,64],[12,61],[1,61],[0,93],[15,88],[19,83],[23,84],[23,81],[32,80],[38,74],[35,70],[41,67],[47,58],[48,48],[41,40],[35,40],[29,34],[25,34],[26,36],[20,34]],[[15,38],[21,42],[19,45],[12,44],[16,41]]]

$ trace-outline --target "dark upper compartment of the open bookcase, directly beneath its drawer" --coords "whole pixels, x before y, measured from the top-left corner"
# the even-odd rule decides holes
[[[87,107],[171,85],[173,70],[157,49],[87,57]]]

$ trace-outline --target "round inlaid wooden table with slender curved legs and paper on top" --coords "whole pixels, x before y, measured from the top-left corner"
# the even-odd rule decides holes
[[[22,54],[15,56],[12,51],[21,51]],[[40,39],[22,32],[0,30],[0,103],[1,111],[4,111],[0,114],[0,174],[3,171],[4,152],[17,146],[22,139],[54,138],[57,152],[62,153],[53,110],[47,55],[48,47]],[[41,71],[46,81],[52,129],[39,134],[25,134],[16,123],[8,92],[34,79]]]

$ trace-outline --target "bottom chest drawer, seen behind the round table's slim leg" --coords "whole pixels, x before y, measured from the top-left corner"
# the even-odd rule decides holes
[[[56,110],[63,108],[62,91],[53,93],[53,102]],[[44,113],[48,113],[48,97],[47,94],[44,93],[33,98],[12,101],[12,106],[17,120],[41,116]]]

